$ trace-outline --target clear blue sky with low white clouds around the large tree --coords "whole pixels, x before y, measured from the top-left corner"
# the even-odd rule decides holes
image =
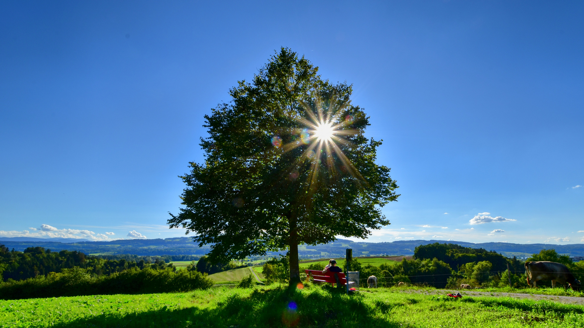
[[[0,236],[168,229],[203,115],[290,47],[384,139],[373,242],[584,242],[578,1],[2,2]]]

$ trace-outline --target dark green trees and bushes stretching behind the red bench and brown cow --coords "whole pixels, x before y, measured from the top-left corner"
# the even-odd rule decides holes
[[[272,259],[264,264],[263,274],[267,282],[286,281],[286,270],[289,270],[286,259],[287,257]],[[532,254],[527,261],[562,263],[580,280],[584,278],[584,261],[573,263],[568,256],[558,254],[554,249],[543,249],[540,253]],[[494,251],[451,243],[418,246],[412,259],[404,258],[395,264],[363,265],[356,257],[341,267],[343,271],[359,271],[361,284],[365,283],[370,275],[375,275],[378,278],[378,285],[387,287],[398,282],[430,285],[436,288],[457,288],[463,283],[472,287],[509,287],[509,280],[513,288],[527,287],[524,262],[515,256],[509,258]],[[313,263],[308,269],[323,270],[324,264]],[[310,277],[304,275],[303,280],[307,278]],[[541,284],[551,285],[551,281],[543,281]]]

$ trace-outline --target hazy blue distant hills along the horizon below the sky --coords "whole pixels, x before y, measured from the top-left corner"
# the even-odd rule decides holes
[[[6,240],[8,239],[8,240]],[[39,238],[40,239],[40,238]],[[157,255],[203,255],[210,246],[198,247],[191,238],[166,239],[120,239],[110,242],[89,242],[74,239],[74,242],[58,242],[54,239],[18,241],[12,238],[0,238],[0,245],[9,249],[25,250],[26,247],[41,246],[53,251],[78,250],[86,254],[135,254],[139,256]],[[495,250],[505,256],[524,257],[538,253],[542,249],[555,249],[558,253],[569,256],[584,256],[584,244],[550,245],[550,244],[514,244],[514,243],[468,243],[446,240],[399,240],[386,243],[352,242],[339,239],[325,245],[301,245],[298,253],[301,257],[344,257],[345,249],[352,248],[353,256],[412,255],[416,246],[430,243],[454,243],[465,247]],[[284,252],[269,253],[276,256]]]

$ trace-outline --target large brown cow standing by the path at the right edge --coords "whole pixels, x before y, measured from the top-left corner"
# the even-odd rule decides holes
[[[525,263],[525,270],[527,271],[527,284],[530,286],[537,287],[538,280],[551,280],[552,288],[555,288],[556,282],[559,282],[566,289],[568,289],[568,285],[575,291],[580,289],[580,281],[562,263],[529,261]]]

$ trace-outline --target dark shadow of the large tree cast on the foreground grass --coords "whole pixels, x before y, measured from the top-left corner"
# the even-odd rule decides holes
[[[398,327],[378,316],[363,296],[334,289],[256,289],[208,308],[157,309],[103,314],[54,327]],[[403,326],[402,326],[403,327]]]

